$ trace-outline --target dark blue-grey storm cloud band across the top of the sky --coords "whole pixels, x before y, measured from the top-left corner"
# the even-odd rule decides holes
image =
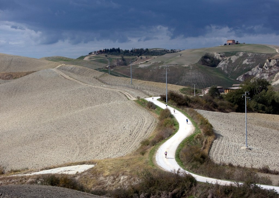
[[[172,37],[195,37],[208,25],[228,26],[239,34],[276,32],[279,1],[1,1],[2,20],[25,23],[50,37],[48,42],[119,38],[138,26],[167,26]],[[277,13],[277,14],[276,14]],[[256,28],[255,28],[256,27]],[[65,38],[65,31],[72,31]],[[76,32],[78,36],[73,36]],[[84,32],[84,33],[83,33]],[[92,32],[92,37],[85,39]],[[278,33],[278,32],[276,32]],[[56,34],[56,35],[54,35]],[[84,34],[84,35],[81,35]]]

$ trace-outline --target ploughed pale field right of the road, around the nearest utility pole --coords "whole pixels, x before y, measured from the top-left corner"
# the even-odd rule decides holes
[[[221,113],[197,110],[214,127],[217,139],[210,157],[219,163],[279,170],[279,115],[247,113],[245,149],[245,113]]]

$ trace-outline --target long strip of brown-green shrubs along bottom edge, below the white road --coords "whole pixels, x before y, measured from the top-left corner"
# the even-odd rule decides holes
[[[198,183],[194,177],[185,171],[165,172],[159,169],[142,170],[138,172],[139,182],[127,188],[114,190],[97,189],[94,195],[107,197],[270,197],[278,198],[275,190],[263,189],[255,185],[255,175],[244,172],[244,184],[223,186],[219,184]]]

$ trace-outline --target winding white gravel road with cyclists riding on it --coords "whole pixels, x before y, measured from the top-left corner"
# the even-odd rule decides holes
[[[153,100],[152,100],[152,98],[146,98],[146,100],[153,102],[155,105],[159,106],[160,108],[163,108],[163,109],[166,108],[165,103],[162,103],[157,100],[159,98],[160,97],[154,97]],[[167,107],[167,108],[170,108],[170,107]],[[177,119],[177,121],[179,123],[179,129],[174,136],[172,136],[170,139],[165,141],[159,147],[159,149],[156,152],[156,157],[155,157],[156,163],[161,168],[163,168],[164,170],[167,170],[167,171],[173,171],[173,170],[178,170],[178,169],[183,170],[183,168],[181,168],[175,161],[175,152],[176,152],[178,145],[194,131],[194,126],[192,125],[192,123],[189,119],[188,119],[188,124],[186,124],[187,117],[184,114],[182,114],[180,111],[178,111],[176,109],[175,113],[174,113],[173,108],[170,108],[170,110],[171,110],[172,115],[174,115],[174,117]],[[167,153],[168,153],[167,158],[165,158],[165,156],[164,156],[165,151],[167,151]],[[209,182],[212,184],[218,183],[221,185],[230,185],[230,184],[235,185],[235,183],[232,181],[203,177],[203,176],[196,175],[196,174],[188,172],[188,171],[186,171],[186,172],[188,174],[192,175],[193,177],[195,177],[195,179],[197,181]],[[274,189],[277,192],[279,192],[278,186],[269,186],[269,185],[260,185],[260,184],[257,184],[257,185],[262,188],[265,188],[265,189]]]

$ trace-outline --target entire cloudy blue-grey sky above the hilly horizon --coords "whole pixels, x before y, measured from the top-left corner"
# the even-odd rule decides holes
[[[0,53],[78,58],[104,48],[279,46],[279,0],[0,0]]]

